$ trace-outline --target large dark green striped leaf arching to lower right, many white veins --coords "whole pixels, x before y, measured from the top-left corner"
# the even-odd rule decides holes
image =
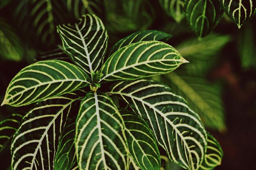
[[[173,162],[189,170],[199,167],[207,136],[198,114],[182,97],[169,87],[146,79],[117,82],[109,94],[129,103],[148,123],[157,143]]]

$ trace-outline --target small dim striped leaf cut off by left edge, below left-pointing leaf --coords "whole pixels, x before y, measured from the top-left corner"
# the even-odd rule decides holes
[[[5,145],[11,141],[13,134],[20,125],[20,121],[24,116],[23,113],[13,113],[0,122],[0,152]]]

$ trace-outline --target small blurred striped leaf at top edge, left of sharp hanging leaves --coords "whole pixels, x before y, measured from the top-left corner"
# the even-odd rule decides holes
[[[160,5],[166,14],[172,17],[176,22],[180,22],[184,17],[184,2],[186,0],[159,0]]]

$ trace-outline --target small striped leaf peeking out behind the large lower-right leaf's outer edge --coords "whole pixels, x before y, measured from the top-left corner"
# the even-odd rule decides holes
[[[209,132],[207,132],[207,150],[199,170],[212,170],[214,167],[221,164],[222,156],[223,152],[220,144]]]

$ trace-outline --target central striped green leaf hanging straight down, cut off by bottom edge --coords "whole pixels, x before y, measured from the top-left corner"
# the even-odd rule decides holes
[[[111,98],[89,92],[76,119],[76,157],[80,170],[126,170],[124,122]]]

